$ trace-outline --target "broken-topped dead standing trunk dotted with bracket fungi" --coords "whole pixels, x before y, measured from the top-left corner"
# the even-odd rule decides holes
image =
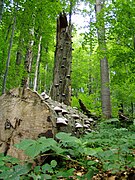
[[[72,41],[71,23],[68,25],[66,14],[60,13],[57,19],[57,36],[53,85],[51,97],[55,101],[71,104],[71,60]]]

